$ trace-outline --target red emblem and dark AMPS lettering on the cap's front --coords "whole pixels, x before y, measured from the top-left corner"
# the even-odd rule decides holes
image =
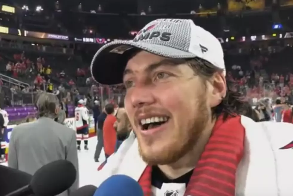
[[[143,41],[143,40],[152,40],[154,38],[159,38],[161,41],[169,41],[171,37],[171,33],[169,32],[162,32],[162,31],[152,31],[155,27],[161,29],[160,24],[152,24],[143,28],[141,31],[138,32],[136,37],[133,39],[133,42]],[[162,29],[163,30],[163,29]]]

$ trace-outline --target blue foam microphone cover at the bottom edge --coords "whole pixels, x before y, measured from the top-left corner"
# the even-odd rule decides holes
[[[141,186],[129,176],[114,175],[106,179],[94,196],[144,196]]]

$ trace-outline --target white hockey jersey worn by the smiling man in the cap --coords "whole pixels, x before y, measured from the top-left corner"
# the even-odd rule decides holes
[[[236,195],[292,195],[293,151],[290,148],[293,124],[254,122],[245,116],[241,116],[241,124],[245,128],[245,150],[236,172]],[[118,151],[107,159],[93,183],[99,187],[115,174],[124,174],[138,181],[146,166],[138,151],[138,141],[131,133]],[[166,191],[169,186],[165,188]],[[161,196],[162,191],[152,189],[155,196]],[[182,195],[184,189],[178,185],[177,191]]]

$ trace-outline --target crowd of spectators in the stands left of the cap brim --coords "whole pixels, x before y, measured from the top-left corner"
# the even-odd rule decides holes
[[[77,67],[76,71],[72,72],[67,67],[72,62],[70,58],[63,61],[66,66],[58,67],[57,59],[54,58],[49,61],[46,57],[24,51],[7,55],[10,56],[9,61],[1,60],[1,64],[6,63],[2,73],[16,80],[14,83],[4,81],[3,88],[7,87],[9,90],[4,101],[6,106],[33,104],[32,96],[35,97],[39,91],[54,93],[60,100],[74,105],[81,98],[86,98],[88,104],[93,104],[94,100],[102,101],[101,97],[115,99],[115,95],[124,93],[123,85],[103,87],[95,83],[90,76],[89,66]],[[19,85],[17,81],[28,85]],[[3,83],[2,80],[0,82]]]

